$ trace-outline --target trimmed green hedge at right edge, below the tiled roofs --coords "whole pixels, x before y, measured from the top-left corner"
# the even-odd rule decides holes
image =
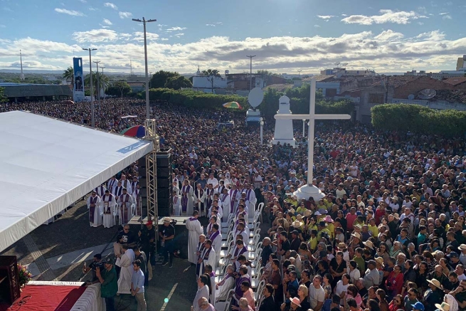
[[[433,110],[421,105],[386,104],[371,108],[372,125],[381,130],[459,137],[466,133],[466,111]]]

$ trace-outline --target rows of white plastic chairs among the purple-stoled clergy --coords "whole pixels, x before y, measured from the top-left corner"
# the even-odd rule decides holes
[[[249,234],[249,243],[248,243],[248,260],[251,262],[251,288],[255,290],[255,300],[256,307],[260,303],[260,297],[265,285],[264,281],[260,281],[260,276],[263,273],[263,268],[258,268],[260,266],[260,255],[262,254],[262,242],[260,241],[260,221],[259,218],[262,217],[264,204],[260,203],[258,208],[254,211],[253,218],[248,218],[248,228],[250,229]],[[221,244],[222,250],[220,253],[221,259],[218,261],[218,268],[216,269],[216,283],[218,283],[223,275],[226,273],[226,267],[231,260],[226,258],[229,253],[235,247],[235,233],[233,232],[234,228],[234,214],[228,216],[228,221],[222,223],[221,233],[223,236],[223,241]],[[216,302],[216,311],[229,311],[231,307],[231,302],[234,297],[234,289],[231,289],[228,292],[228,300],[225,302]]]

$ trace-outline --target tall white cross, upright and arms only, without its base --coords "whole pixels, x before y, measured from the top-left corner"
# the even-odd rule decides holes
[[[309,102],[309,115],[275,115],[275,120],[309,120],[308,154],[307,154],[307,185],[312,186],[312,168],[314,164],[314,125],[315,120],[349,120],[351,115],[316,115],[315,114],[316,80],[311,80],[311,100]],[[304,133],[303,133],[304,135]],[[315,199],[315,198],[314,198]]]

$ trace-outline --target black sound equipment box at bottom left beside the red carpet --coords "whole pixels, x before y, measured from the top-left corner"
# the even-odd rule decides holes
[[[16,256],[0,256],[0,302],[9,305],[21,296],[17,263]]]

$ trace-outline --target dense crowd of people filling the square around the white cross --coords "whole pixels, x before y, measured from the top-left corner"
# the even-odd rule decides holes
[[[84,103],[0,106],[0,112],[6,110],[90,123]],[[161,147],[171,148],[174,155],[174,196],[181,201],[176,214],[215,216],[211,228],[235,214],[235,231],[242,231],[240,218],[247,224],[248,214],[264,203],[263,220],[270,223],[263,232],[260,278],[265,287],[260,302],[251,302],[248,257],[236,253],[221,260],[215,254],[209,262],[209,252],[198,258],[201,241],[196,233],[199,241],[191,242],[189,261],[198,265],[203,293],[196,295],[194,307],[213,307],[218,300],[205,287],[221,288],[229,275],[239,302],[235,310],[256,310],[256,305],[260,311],[465,310],[465,139],[380,132],[351,122],[319,123],[314,180],[309,183],[324,197],[298,201],[293,193],[308,183],[307,144],[299,122],[297,147],[261,145],[258,129],[243,127],[244,116],[235,116],[235,127],[219,130],[218,120],[228,113],[224,110],[169,103],[156,103],[151,110]],[[127,115],[137,117],[122,119]],[[121,132],[143,124],[144,116],[143,102],[111,99],[97,107],[95,123],[102,130]],[[267,119],[265,142],[272,137],[272,125]],[[203,194],[197,194],[205,194],[202,201],[195,195],[198,184]],[[229,196],[228,204],[221,202],[222,194]],[[219,215],[212,205],[227,208]],[[206,229],[201,233],[204,246],[212,246],[214,230]],[[248,246],[248,238],[235,236],[235,249]],[[208,275],[221,264],[228,265],[227,274],[219,276],[223,283],[213,285]]]

